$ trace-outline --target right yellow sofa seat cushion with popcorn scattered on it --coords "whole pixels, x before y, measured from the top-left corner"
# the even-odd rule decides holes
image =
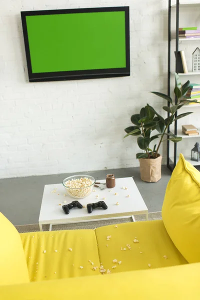
[[[99,227],[95,232],[100,262],[112,272],[146,269],[148,264],[156,268],[187,263],[168,236],[162,220],[122,223],[117,228],[109,225]],[[111,237],[106,240],[108,235]],[[134,243],[134,239],[138,242]],[[113,263],[113,259],[121,264]],[[112,269],[114,265],[116,268]]]

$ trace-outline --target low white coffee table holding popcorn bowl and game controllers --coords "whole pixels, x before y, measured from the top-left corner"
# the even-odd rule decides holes
[[[105,179],[97,181],[105,182]],[[122,186],[128,189],[123,189]],[[146,220],[148,219],[148,209],[132,177],[117,178],[116,186],[112,189],[100,190],[97,187],[93,189],[95,191],[92,191],[86,198],[74,199],[66,194],[62,184],[45,185],[39,214],[40,231],[42,231],[42,224],[50,224],[49,230],[51,230],[52,225],[56,224],[113,219],[125,216],[132,216],[134,220],[133,215],[135,214],[146,214]],[[117,194],[115,195],[115,193]],[[99,195],[98,198],[96,198],[97,194]],[[73,200],[78,200],[82,205],[104,200],[108,208],[96,208],[91,213],[88,213],[87,208],[80,209],[75,207],[69,210],[69,214],[65,214],[62,206],[59,204],[68,204]],[[64,203],[64,201],[66,202]],[[119,205],[116,205],[116,202],[119,202]]]

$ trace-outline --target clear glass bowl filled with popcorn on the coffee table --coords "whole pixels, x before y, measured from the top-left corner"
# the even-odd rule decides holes
[[[80,178],[88,178],[91,181],[89,182],[89,185],[87,185],[85,187],[76,187],[76,185],[78,186],[80,184],[76,183],[74,180],[80,179]],[[69,180],[70,180],[70,184],[69,184],[69,182],[67,182]],[[74,181],[74,182],[72,182],[72,181]],[[68,186],[67,186],[67,183],[69,184]],[[94,177],[89,176],[89,175],[73,175],[73,176],[66,177],[62,181],[62,184],[64,185],[66,192],[70,197],[75,198],[75,199],[82,199],[82,198],[85,198],[86,196],[88,196],[92,192],[93,186],[95,184],[95,179],[94,179]],[[72,187],[71,185],[74,185],[74,186]]]

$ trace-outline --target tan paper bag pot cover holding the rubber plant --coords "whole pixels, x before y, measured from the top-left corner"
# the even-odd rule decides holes
[[[157,182],[161,179],[162,156],[153,158],[139,158],[140,177],[146,182]]]

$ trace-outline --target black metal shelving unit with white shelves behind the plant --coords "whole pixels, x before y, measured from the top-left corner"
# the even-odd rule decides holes
[[[170,55],[171,55],[171,41],[175,41],[175,56],[177,57],[177,52],[178,52],[178,46],[179,46],[179,41],[194,41],[194,40],[200,40],[200,38],[192,38],[192,39],[184,39],[184,38],[178,38],[178,28],[179,28],[179,8],[200,8],[200,2],[198,3],[184,3],[184,4],[180,4],[179,0],[176,0],[176,4],[171,5],[171,0],[168,0],[168,73],[167,73],[167,94],[170,96],[170,75],[174,72],[171,71],[171,61],[170,61]],[[175,9],[175,39],[171,39],[171,9]],[[173,68],[174,69],[174,68]],[[175,72],[177,72],[178,69],[178,63],[177,63],[177,59],[175,59]],[[200,72],[188,72],[188,73],[178,73],[179,76],[193,76],[193,75],[200,75]],[[177,104],[177,98],[175,97],[175,104]],[[199,105],[199,106],[198,106]],[[167,106],[170,106],[170,103],[167,102]],[[200,107],[200,104],[193,104],[193,105],[185,105],[183,106],[184,108],[187,107]],[[167,116],[169,116],[169,113],[167,113]],[[177,111],[175,112],[175,116],[177,116]],[[174,134],[181,136],[182,138],[192,138],[192,137],[200,137],[200,135],[193,135],[193,136],[189,136],[189,135],[183,135],[181,130],[177,128],[177,120],[173,122],[174,124],[174,128],[173,130],[168,127],[167,132],[173,132]],[[176,165],[176,161],[178,159],[177,157],[177,143],[173,143],[173,156],[170,156],[169,153],[169,143],[171,141],[167,140],[167,167],[172,171],[173,168]],[[193,165],[200,165],[200,161],[196,162],[196,161],[192,161],[190,160],[190,157],[186,157],[186,159],[191,162],[191,164]]]

